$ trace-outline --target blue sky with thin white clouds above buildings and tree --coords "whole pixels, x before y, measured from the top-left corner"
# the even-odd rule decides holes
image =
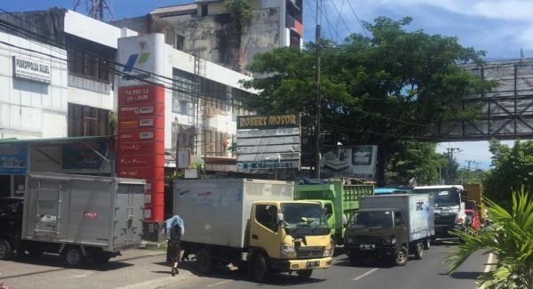
[[[185,4],[194,0],[107,0],[115,19],[144,15],[157,7]],[[306,41],[314,40],[314,18],[317,0],[303,0]],[[349,1],[349,3],[348,3]],[[0,8],[9,12],[44,10],[51,7],[72,9],[73,0],[1,1]],[[80,7],[84,12],[84,0]],[[371,22],[379,16],[400,20],[410,16],[412,30],[428,34],[457,36],[458,42],[487,52],[489,60],[519,58],[521,50],[533,57],[533,1],[531,0],[323,0],[322,36],[334,41],[351,33],[364,33],[359,20]],[[351,5],[350,5],[351,4]],[[339,16],[340,15],[340,16]],[[329,23],[328,23],[329,22]],[[512,144],[513,141],[505,141]],[[479,168],[490,165],[486,141],[442,143],[438,150],[461,149],[459,165],[479,162]],[[475,165],[471,162],[471,167]]]

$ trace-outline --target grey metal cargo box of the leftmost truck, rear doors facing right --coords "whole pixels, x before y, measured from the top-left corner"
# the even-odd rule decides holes
[[[31,173],[22,238],[106,252],[140,245],[144,196],[144,180]]]

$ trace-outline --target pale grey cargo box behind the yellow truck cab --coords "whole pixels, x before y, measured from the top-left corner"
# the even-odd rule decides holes
[[[185,222],[186,242],[243,248],[255,201],[293,199],[290,181],[176,180],[174,208]]]

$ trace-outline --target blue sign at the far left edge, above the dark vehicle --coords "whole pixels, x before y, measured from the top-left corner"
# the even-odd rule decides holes
[[[0,174],[28,173],[28,145],[0,145]]]

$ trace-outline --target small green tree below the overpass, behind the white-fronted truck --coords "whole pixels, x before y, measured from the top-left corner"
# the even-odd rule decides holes
[[[438,154],[434,143],[400,141],[386,168],[386,178],[395,185],[430,185],[439,183],[439,167],[447,159]]]

